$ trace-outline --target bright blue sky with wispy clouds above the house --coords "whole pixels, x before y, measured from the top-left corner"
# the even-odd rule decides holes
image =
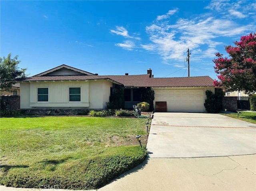
[[[216,52],[256,31],[256,1],[0,1],[0,56],[32,76],[66,64],[99,75],[216,79]]]

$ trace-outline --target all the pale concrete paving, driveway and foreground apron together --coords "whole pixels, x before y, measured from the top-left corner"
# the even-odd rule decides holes
[[[256,190],[255,124],[218,114],[155,113],[147,148],[142,165],[98,191]]]

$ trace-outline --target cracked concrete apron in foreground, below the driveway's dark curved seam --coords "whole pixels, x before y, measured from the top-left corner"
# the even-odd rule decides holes
[[[98,191],[255,191],[256,155],[150,158]]]

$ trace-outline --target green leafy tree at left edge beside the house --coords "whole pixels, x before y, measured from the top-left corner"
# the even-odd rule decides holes
[[[18,55],[11,58],[11,53],[7,57],[0,57],[0,91],[10,91],[14,83],[8,83],[16,78],[24,77],[26,69],[19,69]]]

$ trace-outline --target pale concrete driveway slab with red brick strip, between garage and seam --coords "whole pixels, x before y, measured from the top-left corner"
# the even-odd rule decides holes
[[[155,113],[147,148],[150,158],[256,154],[256,124],[220,114]]]

